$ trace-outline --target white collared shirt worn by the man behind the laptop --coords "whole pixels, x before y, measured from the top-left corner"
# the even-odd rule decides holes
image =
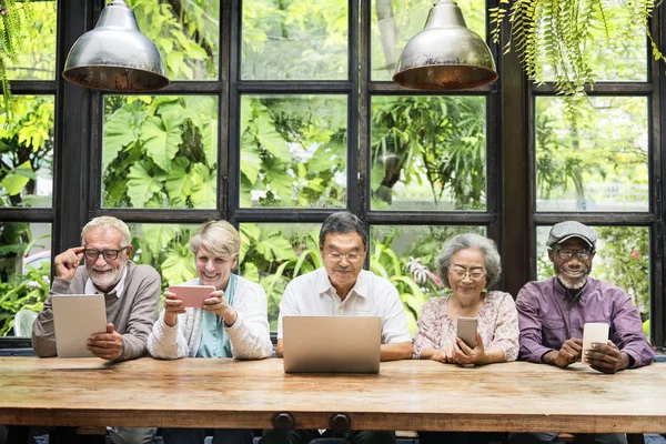
[[[412,341],[407,319],[395,286],[374,273],[362,270],[356,284],[342,301],[321,268],[294,279],[280,302],[278,337],[282,337],[283,316],[380,316],[382,344]]]

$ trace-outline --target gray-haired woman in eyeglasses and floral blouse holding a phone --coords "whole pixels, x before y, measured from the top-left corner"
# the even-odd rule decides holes
[[[437,274],[451,294],[431,297],[421,309],[414,335],[414,359],[444,364],[491,364],[518,356],[518,314],[513,297],[490,291],[502,273],[495,243],[475,233],[458,234],[444,243],[436,260]],[[458,317],[477,321],[476,346],[457,337]],[[502,433],[418,432],[421,444],[486,444]]]

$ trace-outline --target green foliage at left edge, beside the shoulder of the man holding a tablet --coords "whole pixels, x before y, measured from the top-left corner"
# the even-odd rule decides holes
[[[0,281],[0,336],[11,333],[19,310],[41,311],[51,286],[50,266],[50,263],[42,263],[39,269],[29,266],[27,274],[17,274],[9,282]]]

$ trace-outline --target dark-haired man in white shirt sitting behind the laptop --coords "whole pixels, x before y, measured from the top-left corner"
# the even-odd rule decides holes
[[[412,357],[412,336],[403,304],[395,286],[385,279],[363,270],[367,253],[367,232],[363,222],[349,212],[333,213],[320,231],[320,254],[324,266],[295,278],[280,302],[278,346],[282,356],[283,316],[364,315],[382,317],[381,360]],[[327,431],[324,436],[331,435]],[[261,444],[309,443],[317,431],[269,430]],[[349,431],[344,437],[352,444],[395,443],[390,431]]]

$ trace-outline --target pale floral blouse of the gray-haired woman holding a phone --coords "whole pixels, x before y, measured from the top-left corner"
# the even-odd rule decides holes
[[[446,307],[451,294],[431,297],[422,307],[418,316],[418,331],[414,335],[414,359],[426,347],[440,350],[455,341],[457,325]],[[518,312],[508,293],[487,292],[478,313],[478,333],[485,349],[497,346],[504,351],[505,361],[518,357]]]

